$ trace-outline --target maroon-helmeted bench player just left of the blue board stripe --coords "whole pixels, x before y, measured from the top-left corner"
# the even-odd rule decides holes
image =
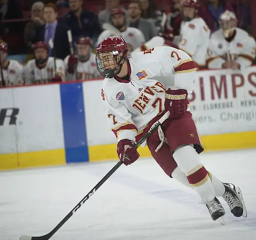
[[[24,67],[26,84],[65,81],[65,66],[61,59],[48,56],[46,42],[36,42],[33,47],[35,59]]]

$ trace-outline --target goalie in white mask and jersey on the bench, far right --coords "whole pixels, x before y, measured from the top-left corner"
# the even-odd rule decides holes
[[[220,16],[220,28],[210,37],[207,51],[208,68],[241,69],[252,64],[256,55],[254,38],[237,28],[237,17],[225,11]]]

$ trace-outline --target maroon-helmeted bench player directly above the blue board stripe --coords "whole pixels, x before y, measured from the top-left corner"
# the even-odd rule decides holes
[[[76,41],[76,55],[65,58],[67,80],[87,80],[100,77],[95,54],[91,53],[92,42],[89,37],[79,37]]]

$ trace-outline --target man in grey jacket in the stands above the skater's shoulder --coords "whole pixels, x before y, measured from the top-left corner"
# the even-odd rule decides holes
[[[157,35],[155,25],[141,17],[140,4],[137,0],[130,2],[128,11],[131,19],[130,27],[139,29],[144,34],[146,42]]]

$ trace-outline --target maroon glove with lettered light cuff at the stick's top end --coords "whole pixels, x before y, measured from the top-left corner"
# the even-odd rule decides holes
[[[170,112],[169,118],[174,119],[180,117],[187,110],[187,90],[167,89],[165,91],[164,109]]]

